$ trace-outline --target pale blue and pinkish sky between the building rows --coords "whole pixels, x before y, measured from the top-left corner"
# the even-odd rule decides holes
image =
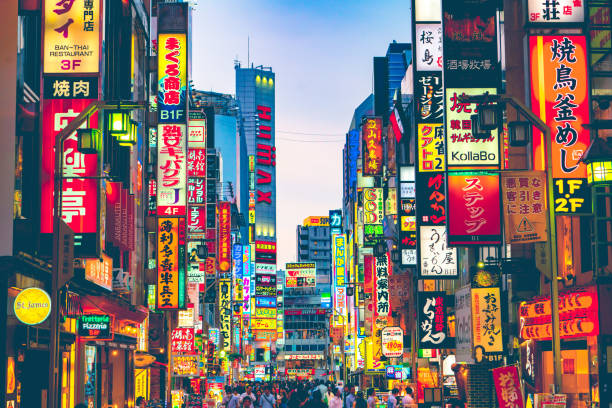
[[[342,205],[342,147],[372,92],[372,58],[410,42],[407,0],[198,0],[196,89],[235,95],[234,60],[276,74],[277,264],[296,260],[296,226]],[[247,46],[250,38],[250,47]]]

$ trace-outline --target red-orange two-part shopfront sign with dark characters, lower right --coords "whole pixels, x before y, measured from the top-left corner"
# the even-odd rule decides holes
[[[562,339],[599,335],[599,298],[594,286],[559,294],[559,332]],[[550,297],[542,297],[519,306],[521,338],[552,338]]]

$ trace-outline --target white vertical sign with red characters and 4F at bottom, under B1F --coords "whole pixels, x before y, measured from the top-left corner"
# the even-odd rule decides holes
[[[157,134],[157,214],[184,216],[187,203],[185,125],[160,124]]]

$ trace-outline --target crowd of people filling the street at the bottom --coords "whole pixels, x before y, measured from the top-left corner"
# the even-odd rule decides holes
[[[406,388],[400,397],[393,389],[386,401],[379,401],[373,388],[355,392],[354,385],[331,382],[238,383],[226,386],[219,408],[413,408],[413,391]]]

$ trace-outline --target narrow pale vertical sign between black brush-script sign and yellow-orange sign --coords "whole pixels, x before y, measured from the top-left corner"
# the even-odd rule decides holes
[[[472,357],[472,296],[470,285],[455,292],[455,347],[457,361],[474,364]]]

